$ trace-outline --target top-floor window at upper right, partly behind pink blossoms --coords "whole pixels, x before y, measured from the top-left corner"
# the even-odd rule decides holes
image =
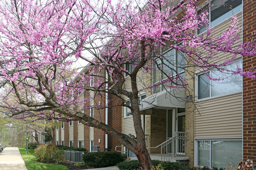
[[[222,2],[224,2],[224,4],[222,4]],[[212,0],[210,4],[210,7],[208,7],[209,4],[207,4],[205,7],[197,12],[197,15],[199,15],[207,10],[207,12],[209,13],[207,17],[210,22],[210,27],[214,27],[217,24],[223,22],[224,20],[230,18],[234,14],[239,13],[240,11],[242,11],[243,7],[242,0]],[[232,9],[230,9],[230,6],[232,6]],[[197,30],[197,34],[200,34],[204,31],[206,31],[205,24],[203,24],[203,26],[201,26],[200,29]]]

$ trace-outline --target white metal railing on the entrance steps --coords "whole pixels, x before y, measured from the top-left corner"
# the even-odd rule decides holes
[[[147,149],[155,149],[161,146],[161,161],[169,161],[171,158],[176,156],[185,156],[186,133],[187,132],[175,132],[174,137],[156,147],[149,147]]]

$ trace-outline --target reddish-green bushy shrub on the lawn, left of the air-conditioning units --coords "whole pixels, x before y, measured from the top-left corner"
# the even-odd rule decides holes
[[[43,163],[59,163],[64,159],[64,151],[52,144],[43,144],[35,149],[34,153],[38,161]]]

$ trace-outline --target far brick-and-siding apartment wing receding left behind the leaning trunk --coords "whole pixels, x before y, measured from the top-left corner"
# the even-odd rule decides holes
[[[89,66],[89,64],[87,65]],[[88,67],[85,67],[81,72],[87,74]],[[98,69],[95,74],[106,77],[106,71],[104,69]],[[79,81],[79,78],[76,79]],[[98,78],[91,77],[89,86],[93,86],[94,82],[99,81]],[[95,92],[78,92],[76,94],[78,103],[74,104],[74,110],[83,112],[91,117],[94,117],[101,122],[111,125],[113,128],[121,132],[121,106],[104,108],[106,102],[118,102],[112,95],[95,95]],[[89,100],[88,100],[89,99]],[[91,107],[88,107],[91,106]],[[102,109],[97,109],[103,106]],[[63,146],[72,146],[78,148],[86,148],[88,152],[97,152],[104,150],[115,150],[115,146],[121,146],[120,142],[117,141],[111,135],[107,135],[102,130],[97,128],[89,127],[82,124],[80,121],[69,121],[61,122],[61,125],[56,130],[56,144]],[[118,148],[120,150],[121,148]]]

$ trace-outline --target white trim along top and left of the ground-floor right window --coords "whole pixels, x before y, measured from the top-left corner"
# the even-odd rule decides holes
[[[194,166],[198,166],[198,141],[242,141],[243,142],[243,137],[213,137],[213,138],[194,138]],[[243,147],[243,146],[242,146]]]

